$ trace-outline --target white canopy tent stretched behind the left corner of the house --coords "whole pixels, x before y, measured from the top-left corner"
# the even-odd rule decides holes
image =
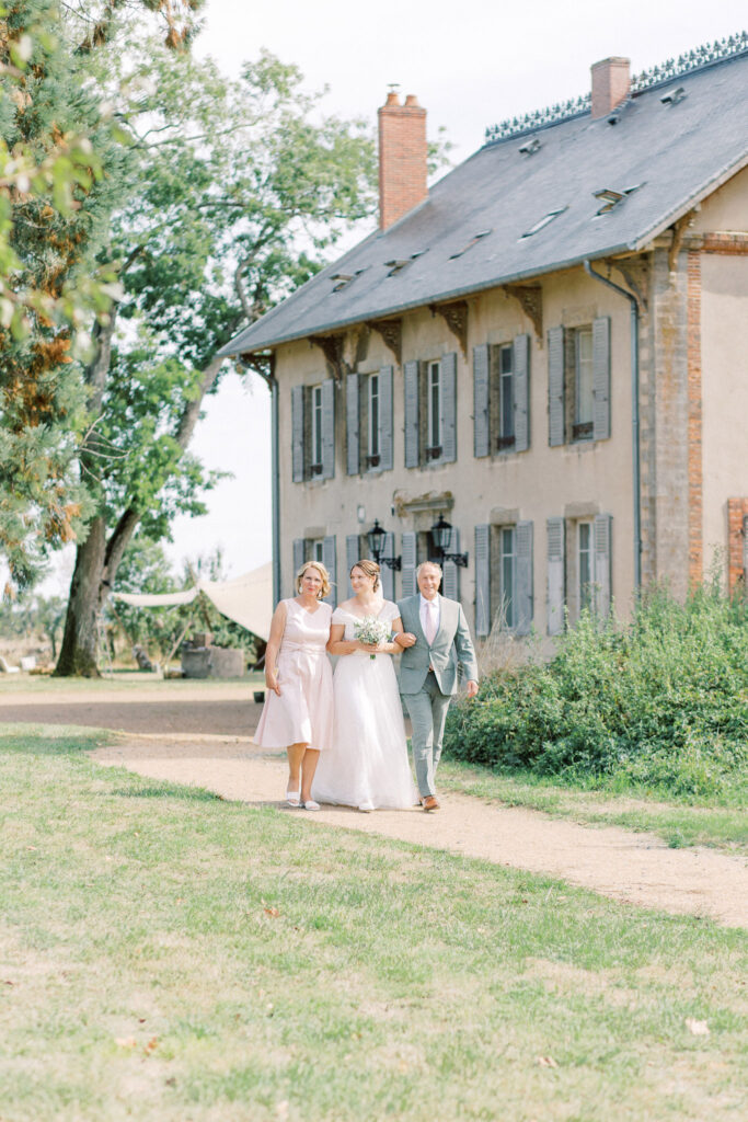
[[[270,562],[252,569],[234,580],[198,580],[193,588],[183,592],[161,595],[139,595],[136,592],[113,592],[116,599],[131,604],[136,608],[166,608],[177,604],[191,604],[198,592],[204,592],[221,615],[241,624],[258,638],[267,640],[273,617],[273,565]]]

